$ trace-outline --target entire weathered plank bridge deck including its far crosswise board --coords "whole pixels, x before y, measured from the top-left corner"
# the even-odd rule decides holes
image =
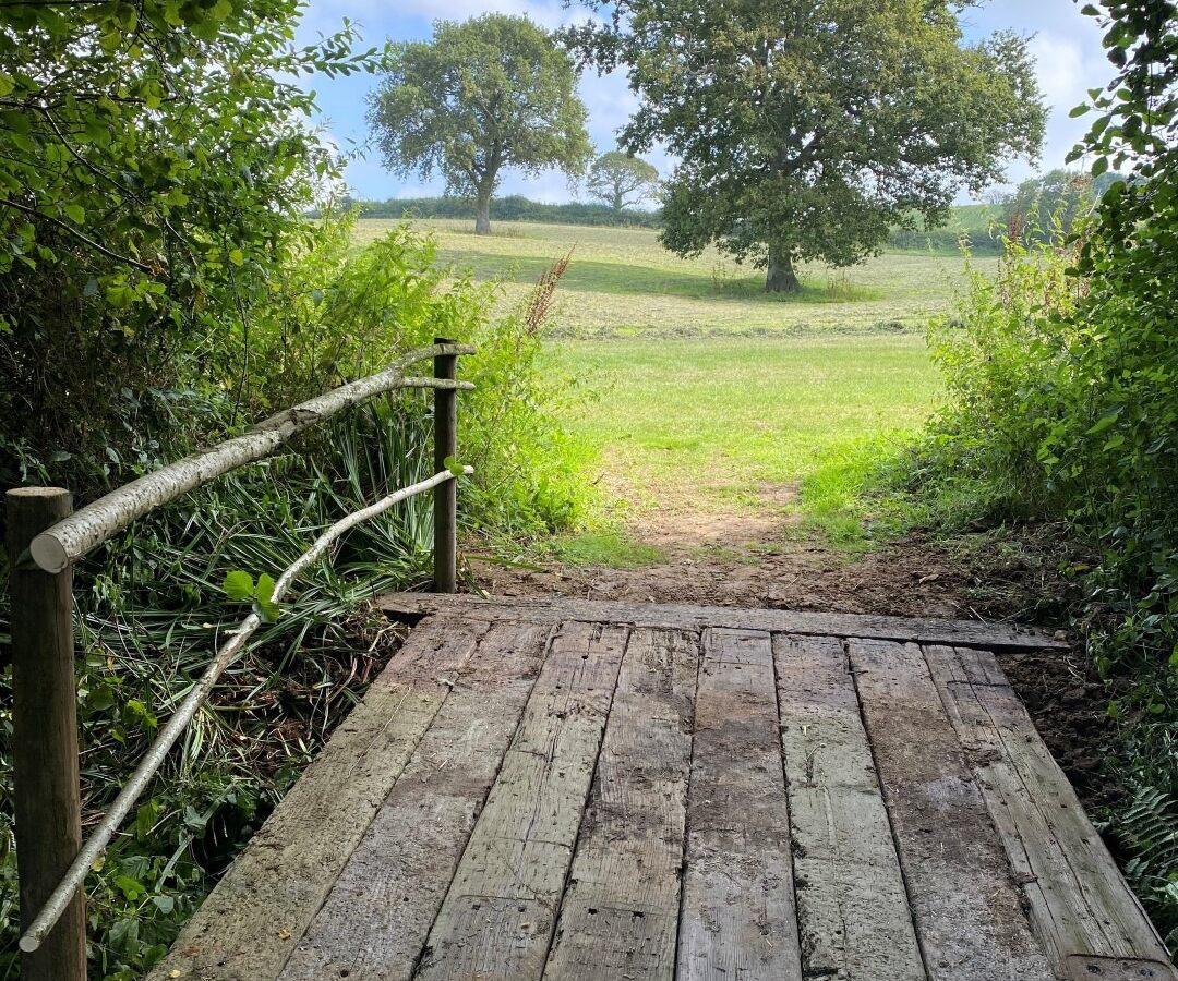
[[[1178,981],[952,621],[419,619],[152,981]]]

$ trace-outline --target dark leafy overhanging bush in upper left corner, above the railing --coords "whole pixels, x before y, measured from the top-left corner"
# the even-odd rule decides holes
[[[216,431],[249,311],[311,247],[302,211],[338,173],[294,79],[372,64],[346,26],[294,47],[297,12],[5,5],[0,480],[84,501],[92,475],[157,463],[177,427]]]

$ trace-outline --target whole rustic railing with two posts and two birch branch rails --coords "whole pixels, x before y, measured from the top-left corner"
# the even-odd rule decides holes
[[[85,877],[111,842],[168,751],[260,625],[251,614],[179,700],[167,724],[121,788],[90,840],[81,836],[78,689],[74,663],[75,559],[137,518],[239,466],[263,459],[323,419],[399,389],[434,390],[434,475],[331,525],[279,577],[280,599],[296,576],[320,559],[340,535],[398,502],[434,492],[434,589],[454,592],[457,570],[457,396],[475,386],[457,379],[459,354],[475,349],[442,337],[383,371],[271,416],[246,433],[161,466],[71,513],[64,488],[14,488],[7,508],[11,597],[14,774],[13,833],[20,854],[20,963],[28,981],[86,980]],[[434,377],[406,373],[432,357]]]

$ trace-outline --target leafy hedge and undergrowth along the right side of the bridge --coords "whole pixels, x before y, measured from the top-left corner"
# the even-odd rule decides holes
[[[952,395],[924,477],[958,517],[1060,521],[1098,558],[1068,571],[1097,670],[1118,690],[1110,831],[1159,923],[1178,923],[1178,8],[1090,5],[1117,69],[1090,95],[1092,174],[1130,168],[1066,245],[1012,244],[933,331]],[[1086,111],[1081,107],[1080,112]],[[1077,150],[1077,155],[1081,150]]]

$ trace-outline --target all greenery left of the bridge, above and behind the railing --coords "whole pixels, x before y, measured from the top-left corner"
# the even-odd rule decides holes
[[[488,384],[463,396],[462,458],[487,482],[464,499],[464,519],[492,531],[558,523],[577,486],[547,452],[562,437],[530,386],[536,329],[496,311],[496,286],[446,278],[421,237],[398,230],[357,254],[330,207],[306,220],[337,165],[300,124],[312,101],[292,79],[372,59],[348,51],[348,28],[294,49],[297,9],[5,6],[0,483],[59,483],[85,503],[445,333],[487,351],[465,360]],[[496,390],[508,374],[514,386]],[[350,531],[331,563],[294,584],[280,618],[273,577],[325,526],[431,472],[430,422],[422,393],[353,411],[138,522],[77,568],[87,818],[240,621],[240,603],[271,621],[90,876],[92,977],[131,981],[158,961],[379,669],[388,624],[358,608],[428,581],[428,501]],[[11,701],[9,674],[0,976],[16,961]]]

